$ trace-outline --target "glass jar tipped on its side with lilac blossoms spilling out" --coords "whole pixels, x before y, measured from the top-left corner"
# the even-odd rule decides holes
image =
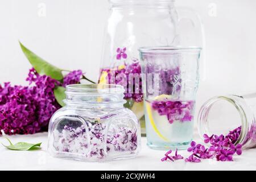
[[[201,106],[197,119],[200,137],[204,134],[233,135],[232,143],[243,148],[256,146],[256,93],[210,98]]]

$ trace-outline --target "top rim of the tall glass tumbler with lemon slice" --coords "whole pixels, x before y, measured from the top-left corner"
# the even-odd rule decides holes
[[[199,53],[201,51],[201,47],[196,46],[158,46],[158,47],[140,47],[138,50],[141,53],[154,53],[154,54],[162,54],[162,53]]]

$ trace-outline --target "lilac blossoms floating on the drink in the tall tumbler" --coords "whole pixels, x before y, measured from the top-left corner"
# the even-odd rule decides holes
[[[166,115],[170,124],[175,120],[188,122],[193,119],[194,101],[152,101],[152,109],[157,110],[159,115]]]

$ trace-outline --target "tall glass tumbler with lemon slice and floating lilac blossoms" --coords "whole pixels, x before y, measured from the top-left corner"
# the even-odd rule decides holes
[[[147,145],[159,150],[187,148],[193,135],[201,48],[143,47],[139,51]]]

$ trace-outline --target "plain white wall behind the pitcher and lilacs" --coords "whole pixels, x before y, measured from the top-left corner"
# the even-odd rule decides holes
[[[256,90],[256,1],[177,0],[176,6],[196,10],[204,23],[206,74],[197,110],[216,94]],[[107,0],[0,0],[0,83],[27,84],[31,66],[18,40],[57,67],[97,80],[108,8]]]

